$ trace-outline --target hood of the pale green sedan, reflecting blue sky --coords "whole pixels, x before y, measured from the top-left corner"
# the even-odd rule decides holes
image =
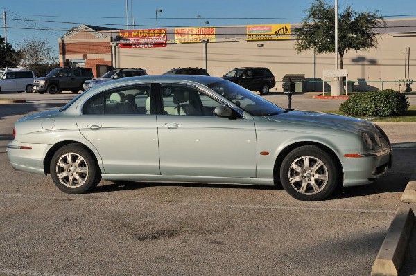
[[[266,118],[278,122],[297,123],[317,128],[327,127],[331,129],[341,129],[354,133],[360,133],[362,131],[374,132],[375,130],[374,125],[365,120],[312,111],[289,111],[279,115],[266,116]]]

